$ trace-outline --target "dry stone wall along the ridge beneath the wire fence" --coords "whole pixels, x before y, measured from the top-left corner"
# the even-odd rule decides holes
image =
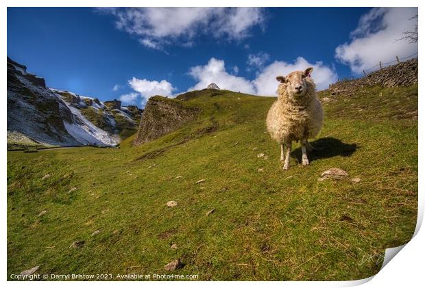
[[[339,81],[331,84],[329,90],[332,94],[352,92],[365,87],[383,86],[410,86],[417,83],[417,58],[385,67],[369,75],[347,81]]]

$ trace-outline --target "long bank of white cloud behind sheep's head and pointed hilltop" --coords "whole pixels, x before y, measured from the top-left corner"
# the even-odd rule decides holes
[[[195,66],[189,70],[189,75],[197,81],[191,90],[201,90],[214,82],[219,88],[241,91],[247,94],[257,94],[262,96],[275,96],[278,87],[276,76],[287,75],[295,70],[305,70],[313,67],[313,79],[319,90],[328,88],[329,83],[337,81],[337,73],[322,62],[312,64],[303,57],[298,57],[293,63],[275,61],[269,66],[265,66],[255,79],[249,80],[244,77],[237,77],[226,72],[223,60],[211,58],[204,66]]]

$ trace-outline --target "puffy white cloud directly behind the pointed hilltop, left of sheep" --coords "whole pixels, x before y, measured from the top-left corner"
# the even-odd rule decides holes
[[[255,94],[255,89],[251,81],[226,72],[223,60],[211,58],[208,64],[204,66],[192,67],[189,70],[189,75],[191,75],[197,83],[195,86],[189,88],[188,91],[201,90],[206,88],[210,83],[216,83],[220,89]]]

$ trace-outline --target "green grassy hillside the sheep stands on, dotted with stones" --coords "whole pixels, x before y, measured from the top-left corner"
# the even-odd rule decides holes
[[[321,96],[319,150],[302,167],[295,144],[289,171],[265,132],[274,99],[234,92],[190,97],[202,116],[142,146],[9,152],[8,274],[163,274],[174,259],[200,280],[376,274],[415,229],[417,86]],[[350,177],[317,181],[329,168]]]

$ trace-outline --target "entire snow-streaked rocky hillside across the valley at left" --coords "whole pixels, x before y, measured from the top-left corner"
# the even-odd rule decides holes
[[[141,110],[73,92],[46,88],[45,80],[8,57],[8,147],[114,146],[136,133]],[[9,145],[10,144],[10,145]]]

